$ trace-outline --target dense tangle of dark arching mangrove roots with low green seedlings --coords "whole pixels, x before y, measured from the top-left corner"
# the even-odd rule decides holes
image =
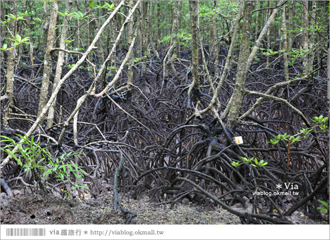
[[[220,54],[224,57],[227,50],[227,46],[221,47]],[[117,50],[118,62],[124,52],[125,49]],[[160,58],[166,53],[164,47],[158,52]],[[208,51],[204,54],[207,56]],[[191,51],[182,46],[178,57],[189,60]],[[251,65],[245,79],[246,88],[265,92],[283,81],[282,59],[278,53],[271,55],[272,64],[266,68],[266,55],[259,51],[257,57],[258,61]],[[83,196],[84,192],[89,192],[97,198],[102,191],[115,186],[116,191],[129,197],[147,194],[150,200],[159,203],[174,204],[187,198],[196,204],[220,205],[239,216],[242,223],[290,223],[285,215],[298,207],[311,218],[322,218],[316,208],[322,206],[317,199],[328,199],[326,68],[314,72],[309,81],[301,80],[278,88],[274,93],[299,109],[314,123],[311,127],[306,127],[287,105],[265,99],[234,129],[224,132],[211,114],[187,121],[197,102],[205,107],[212,98],[206,74],[201,71],[200,91],[192,92],[190,102],[187,96],[191,83],[189,62],[174,61],[168,78],[163,79],[160,58],[151,55],[147,58],[143,78],[141,62],[135,61],[131,95],[127,95],[124,88],[127,79],[124,70],[107,95],[88,98],[77,119],[77,144],[74,143],[73,125],[69,124],[62,144],[58,145],[56,139],[63,127],[62,119],[72,112],[76,100],[92,82],[90,69],[82,64],[59,91],[57,124],[51,128],[41,126],[33,134],[36,150],[42,148],[46,153],[35,155],[33,167],[23,158],[20,158],[21,163],[17,159],[10,161],[2,169],[1,177],[10,187],[58,192],[63,197]],[[69,59],[64,74],[78,58],[72,54]],[[97,56],[95,59],[97,64]],[[36,58],[34,65],[25,58],[22,62],[24,64],[18,65],[15,72],[21,78],[16,77],[14,81],[15,115],[10,120],[11,128],[1,129],[1,135],[16,142],[20,136],[15,133],[23,135],[36,119],[42,74],[38,71],[40,59]],[[289,66],[291,78],[301,76],[300,66],[299,59]],[[213,77],[217,66],[209,60],[208,67],[212,81],[217,81]],[[221,70],[222,66],[218,67]],[[233,91],[236,67],[233,62],[220,90],[219,114]],[[1,79],[3,75],[1,69]],[[111,80],[111,75],[106,77]],[[256,96],[246,94],[241,112],[249,109],[256,99]],[[320,115],[324,117],[317,119],[323,120],[316,120],[315,116]],[[241,136],[243,143],[229,142],[226,132],[230,137]],[[295,140],[297,136],[300,138]],[[26,143],[28,141],[22,144],[22,149]],[[10,149],[6,144],[2,141],[1,147]],[[72,151],[77,153],[70,155]],[[2,151],[1,159],[5,156]],[[64,174],[60,169],[54,170],[54,164],[62,167]],[[47,169],[48,173],[45,173]],[[282,188],[278,188],[278,184]],[[78,191],[72,191],[75,188]],[[297,194],[288,194],[289,191]],[[233,209],[231,206],[236,203],[243,207],[251,203],[251,212]],[[134,216],[133,212],[125,213]]]

